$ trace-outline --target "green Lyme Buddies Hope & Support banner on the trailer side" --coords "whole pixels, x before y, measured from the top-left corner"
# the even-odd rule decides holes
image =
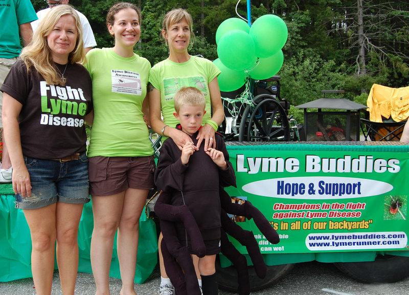
[[[358,143],[356,143],[358,144]],[[237,189],[280,235],[262,254],[409,249],[407,146],[274,144],[229,146]],[[236,218],[240,220],[240,218]]]

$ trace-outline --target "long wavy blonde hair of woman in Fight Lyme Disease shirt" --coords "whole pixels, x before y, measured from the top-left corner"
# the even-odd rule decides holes
[[[84,43],[82,41],[82,25],[77,12],[70,5],[59,5],[51,9],[41,20],[33,35],[31,43],[22,49],[20,57],[27,66],[27,71],[34,67],[49,85],[64,85],[60,74],[57,73],[52,52],[47,43],[47,37],[54,30],[58,20],[63,15],[71,15],[75,19],[78,32],[75,48],[68,56],[68,62],[85,62]]]

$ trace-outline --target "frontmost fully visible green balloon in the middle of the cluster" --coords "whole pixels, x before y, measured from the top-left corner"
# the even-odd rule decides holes
[[[217,55],[223,65],[229,69],[245,70],[254,62],[253,38],[241,30],[229,31],[220,38]]]

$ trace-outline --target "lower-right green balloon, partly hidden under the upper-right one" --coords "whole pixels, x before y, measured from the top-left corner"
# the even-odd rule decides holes
[[[255,80],[268,79],[280,71],[283,62],[283,51],[279,50],[279,52],[267,58],[260,58],[258,65],[248,73],[250,74],[250,77]]]

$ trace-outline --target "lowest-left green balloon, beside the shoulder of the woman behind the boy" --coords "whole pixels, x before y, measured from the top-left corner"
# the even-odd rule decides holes
[[[234,71],[224,66],[220,58],[215,59],[214,64],[221,71],[217,77],[220,91],[229,92],[242,87],[246,81],[246,74],[244,71]]]

